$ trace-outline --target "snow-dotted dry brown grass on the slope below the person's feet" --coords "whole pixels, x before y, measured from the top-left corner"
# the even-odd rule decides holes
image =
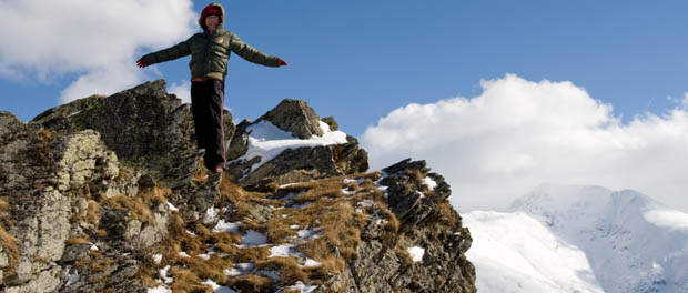
[[[389,245],[396,243],[398,221],[392,212],[386,209],[383,192],[377,189],[375,181],[380,179],[380,173],[361,173],[354,179],[360,182],[344,182],[344,176],[325,179],[320,181],[308,181],[290,184],[283,188],[275,188],[274,193],[250,192],[232,183],[224,178],[220,184],[220,191],[226,202],[221,206],[231,203],[232,212],[229,213],[232,222],[242,222],[239,231],[246,233],[250,230],[265,233],[271,244],[299,241],[297,231],[302,229],[317,230],[322,234],[317,239],[301,243],[297,250],[305,256],[322,263],[318,267],[302,267],[294,257],[271,257],[270,246],[244,246],[240,249],[236,244],[241,243],[241,236],[230,232],[213,232],[211,228],[195,221],[185,223],[179,214],[171,214],[169,221],[168,238],[162,241],[164,246],[156,247],[154,253],[163,255],[160,264],[148,263],[148,267],[140,271],[140,277],[146,284],[154,285],[158,272],[161,267],[170,265],[168,275],[174,277],[171,285],[174,292],[205,292],[206,286],[199,285],[200,282],[211,279],[219,284],[225,284],[241,292],[273,292],[276,290],[272,280],[259,275],[239,275],[229,277],[223,270],[232,269],[235,263],[253,263],[254,270],[270,270],[280,273],[279,283],[292,285],[297,281],[304,283],[322,284],[333,274],[343,272],[346,262],[355,260],[357,247],[361,244],[361,231],[372,220],[370,215],[355,211],[356,202],[373,200],[377,216],[386,220],[383,228],[389,234],[386,242]],[[346,189],[355,194],[345,194]],[[291,200],[284,199],[290,192],[297,192],[299,195]],[[154,194],[153,194],[154,195]],[[139,195],[142,203],[162,202],[154,198]],[[136,200],[134,199],[134,201]],[[148,200],[150,199],[150,201]],[[253,216],[256,205],[270,204],[273,206],[284,206],[287,203],[302,204],[310,203],[307,206],[297,209],[273,210],[267,216],[267,221],[261,222]],[[125,202],[119,203],[127,206]],[[366,209],[366,212],[371,212]],[[260,218],[257,218],[260,219]],[[299,225],[299,229],[291,229],[291,225]],[[196,236],[186,233],[192,230]],[[213,249],[215,254],[210,260],[198,256]],[[180,256],[180,252],[186,252],[192,257]]]

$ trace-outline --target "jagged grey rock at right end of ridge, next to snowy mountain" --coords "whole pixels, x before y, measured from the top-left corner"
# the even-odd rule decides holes
[[[428,175],[425,161],[407,159],[384,169],[387,176],[381,184],[388,186],[389,208],[401,222],[401,235],[395,241],[422,246],[425,255],[419,263],[401,265],[404,261],[397,253],[385,247],[384,233],[368,225],[362,234],[366,241],[358,247],[358,259],[348,266],[357,292],[393,292],[394,287],[406,287],[407,292],[475,292],[475,267],[464,255],[472,241],[468,230],[462,228],[461,216],[447,209],[443,193],[433,194],[433,199],[422,196],[417,189],[422,183],[414,181],[409,170]],[[436,183],[443,186],[444,181]]]

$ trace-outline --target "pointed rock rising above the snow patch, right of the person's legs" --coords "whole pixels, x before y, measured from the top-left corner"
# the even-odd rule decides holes
[[[270,121],[281,130],[291,132],[302,140],[323,135],[320,117],[303,100],[284,99],[277,107],[267,111],[256,122]]]

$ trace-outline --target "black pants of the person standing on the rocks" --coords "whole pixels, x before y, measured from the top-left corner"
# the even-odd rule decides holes
[[[199,149],[205,149],[205,166],[213,170],[217,164],[224,168],[223,107],[224,82],[209,79],[191,82],[191,112],[195,123]]]

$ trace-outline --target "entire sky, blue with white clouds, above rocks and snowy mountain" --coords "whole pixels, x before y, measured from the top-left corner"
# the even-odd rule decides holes
[[[303,99],[360,138],[373,168],[427,160],[458,210],[560,183],[688,212],[688,2],[220,2],[225,29],[289,62],[231,58],[236,120]],[[209,1],[92,3],[0,0],[0,110],[28,121],[159,78],[188,95],[188,58],[134,62],[198,31]]]

